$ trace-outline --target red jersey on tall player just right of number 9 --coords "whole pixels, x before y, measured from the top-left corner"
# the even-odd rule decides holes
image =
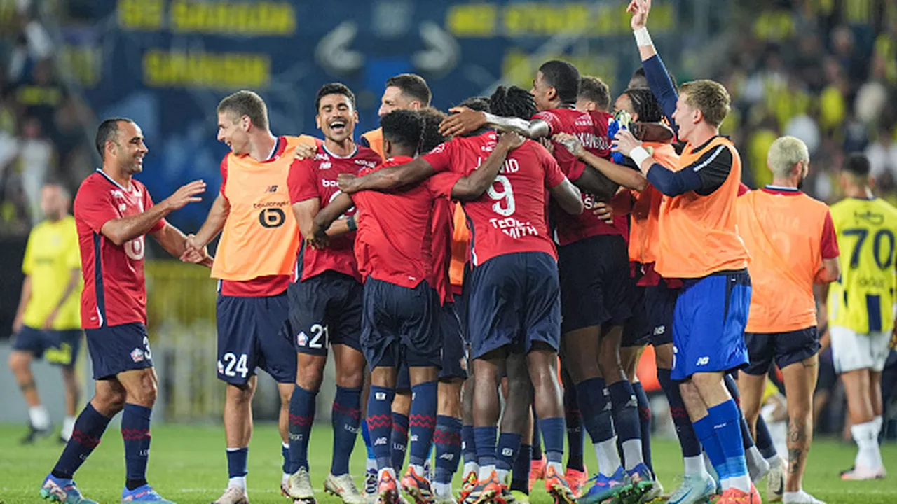
[[[611,141],[607,136],[607,126],[614,116],[597,110],[579,112],[576,109],[550,109],[539,112],[533,118],[542,119],[548,123],[552,135],[556,133],[575,135],[588,152],[607,160],[610,159]],[[586,163],[579,161],[560,143],[554,144],[554,158],[561,165],[564,175],[570,180],[581,177],[583,170],[586,169]],[[560,208],[553,209],[555,215],[554,240],[558,245],[568,245],[580,239],[603,234],[627,234],[625,216],[614,218],[612,226],[601,221],[592,213],[595,196],[583,191],[582,202],[586,205],[586,210],[579,215],[570,215]]]

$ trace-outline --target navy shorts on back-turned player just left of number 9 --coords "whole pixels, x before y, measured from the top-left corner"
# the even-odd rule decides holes
[[[427,282],[408,289],[368,277],[361,314],[361,352],[368,367],[398,368],[404,361],[413,368],[439,368],[439,310],[439,295]]]

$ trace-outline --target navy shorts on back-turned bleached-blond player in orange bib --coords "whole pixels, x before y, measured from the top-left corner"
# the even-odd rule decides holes
[[[747,355],[751,362],[745,373],[754,376],[770,372],[772,361],[779,369],[796,364],[819,352],[819,332],[816,326],[787,333],[745,333]]]

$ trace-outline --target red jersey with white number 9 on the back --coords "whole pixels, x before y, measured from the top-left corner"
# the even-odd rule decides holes
[[[439,173],[433,178],[438,181],[437,187],[442,187],[440,193],[446,192],[445,187],[450,193],[457,182],[457,177],[452,179],[441,172],[473,172],[489,157],[495,143],[495,132],[457,137],[425,155]],[[556,257],[545,223],[545,189],[557,186],[564,178],[557,161],[539,143],[527,140],[510,152],[489,190],[463,203],[471,225],[474,265],[517,252],[545,252]]]

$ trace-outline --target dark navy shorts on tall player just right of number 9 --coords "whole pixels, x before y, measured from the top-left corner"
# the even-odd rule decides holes
[[[629,252],[619,235],[599,235],[558,247],[561,333],[591,326],[623,326],[631,317]]]

